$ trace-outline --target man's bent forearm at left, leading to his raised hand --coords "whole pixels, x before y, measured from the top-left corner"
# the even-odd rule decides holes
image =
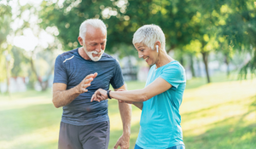
[[[53,93],[53,104],[56,108],[61,106],[67,106],[75,98],[79,96],[77,89],[72,88],[68,90],[55,90]]]

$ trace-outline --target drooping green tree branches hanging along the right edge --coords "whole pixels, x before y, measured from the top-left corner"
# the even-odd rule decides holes
[[[224,11],[229,17],[224,26],[221,26],[221,35],[226,37],[230,48],[252,56],[240,70],[240,77],[246,78],[248,70],[256,73],[256,3],[252,0],[230,0],[230,3],[229,7],[226,6],[227,11]]]

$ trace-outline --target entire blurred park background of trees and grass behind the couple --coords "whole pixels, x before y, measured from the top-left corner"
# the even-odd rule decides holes
[[[186,69],[186,148],[256,148],[254,0],[0,0],[0,148],[57,148],[55,58],[79,47],[79,26],[89,18],[108,26],[105,52],[119,60],[128,89],[143,89],[149,68],[133,33],[145,24],[165,32],[167,53]],[[118,103],[108,103],[113,148],[122,123]],[[130,148],[140,114],[132,106]]]

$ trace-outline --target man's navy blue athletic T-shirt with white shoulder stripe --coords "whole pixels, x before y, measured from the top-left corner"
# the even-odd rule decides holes
[[[54,83],[66,83],[67,89],[78,85],[84,77],[97,72],[97,77],[88,87],[88,92],[79,95],[69,105],[63,106],[61,122],[73,125],[88,125],[109,121],[108,100],[90,102],[97,89],[119,89],[125,84],[119,62],[108,54],[99,61],[85,60],[78,49],[58,55],[55,60]]]

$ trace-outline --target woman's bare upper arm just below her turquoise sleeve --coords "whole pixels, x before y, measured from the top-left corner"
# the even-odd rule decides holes
[[[170,83],[168,83],[165,79],[158,77],[153,83],[150,83],[146,88],[143,89],[143,93],[147,95],[147,99],[150,99],[155,95],[160,95],[170,88],[172,88]]]

